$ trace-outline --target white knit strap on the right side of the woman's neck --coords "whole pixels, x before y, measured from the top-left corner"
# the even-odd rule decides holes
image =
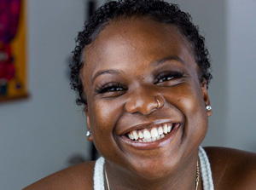
[[[201,178],[203,181],[204,190],[214,190],[212,181],[212,171],[207,153],[202,147],[199,147],[199,158],[201,163]]]

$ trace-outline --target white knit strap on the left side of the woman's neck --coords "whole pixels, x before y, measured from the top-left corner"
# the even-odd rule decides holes
[[[94,167],[94,190],[104,190],[104,158],[98,158]]]

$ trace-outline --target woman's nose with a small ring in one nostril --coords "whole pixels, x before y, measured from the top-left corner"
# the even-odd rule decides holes
[[[143,88],[131,92],[125,103],[125,111],[129,113],[139,112],[148,115],[164,105],[164,98],[153,90]]]

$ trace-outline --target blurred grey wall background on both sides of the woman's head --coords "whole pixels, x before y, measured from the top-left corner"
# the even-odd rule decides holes
[[[105,2],[26,1],[29,96],[0,103],[0,189],[21,189],[91,158],[85,115],[69,87],[68,65],[89,8]],[[213,114],[203,146],[256,152],[256,1],[168,2],[192,15],[212,57]]]

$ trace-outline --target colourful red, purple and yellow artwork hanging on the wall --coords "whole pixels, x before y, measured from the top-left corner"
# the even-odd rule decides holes
[[[27,96],[25,15],[25,1],[0,0],[0,102]]]

